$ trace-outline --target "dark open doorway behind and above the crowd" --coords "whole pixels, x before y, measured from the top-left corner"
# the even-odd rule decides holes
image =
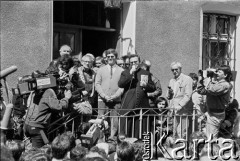
[[[103,1],[53,2],[53,59],[59,57],[59,48],[70,45],[72,55],[116,48],[120,33],[119,8],[104,8]]]

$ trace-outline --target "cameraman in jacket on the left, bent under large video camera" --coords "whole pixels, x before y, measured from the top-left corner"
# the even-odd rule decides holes
[[[61,111],[68,107],[68,100],[72,93],[70,90],[64,92],[65,97],[57,99],[53,89],[36,90],[28,98],[28,111],[25,119],[25,134],[31,138],[32,146],[40,148],[44,145],[44,136],[51,118],[52,110]]]

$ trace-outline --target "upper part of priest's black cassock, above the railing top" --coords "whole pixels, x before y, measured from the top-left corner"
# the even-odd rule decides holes
[[[148,77],[148,83],[145,88],[140,86],[142,75]],[[150,107],[147,93],[154,92],[156,89],[150,72],[140,68],[132,75],[130,74],[130,70],[127,69],[121,73],[118,86],[126,90],[122,99],[122,109]]]

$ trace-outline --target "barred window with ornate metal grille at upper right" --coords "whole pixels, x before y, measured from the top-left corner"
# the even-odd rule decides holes
[[[235,63],[236,17],[203,14],[202,68],[216,68]]]

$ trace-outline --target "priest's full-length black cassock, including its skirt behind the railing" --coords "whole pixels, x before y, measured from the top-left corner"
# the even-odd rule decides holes
[[[142,76],[146,76],[148,78],[148,83],[145,88],[140,86],[140,81]],[[147,93],[153,92],[156,90],[154,82],[152,81],[150,72],[138,69],[134,75],[130,74],[130,70],[126,69],[121,73],[120,80],[118,82],[118,86],[120,88],[124,88],[125,94],[122,98],[122,109],[120,111],[121,115],[134,116],[139,114],[139,110],[135,110],[134,112],[130,112],[130,109],[140,109],[140,108],[150,108],[149,100]],[[145,110],[144,110],[145,111]],[[130,113],[128,113],[130,112]],[[134,137],[139,137],[139,119],[135,119],[134,121],[134,130],[132,129],[132,119],[129,118],[126,120],[124,117],[120,118],[120,134],[127,134],[127,136],[131,136],[132,131],[134,131]],[[127,126],[127,131],[125,131],[125,127]],[[147,130],[147,119],[143,117],[142,120],[142,133]]]

